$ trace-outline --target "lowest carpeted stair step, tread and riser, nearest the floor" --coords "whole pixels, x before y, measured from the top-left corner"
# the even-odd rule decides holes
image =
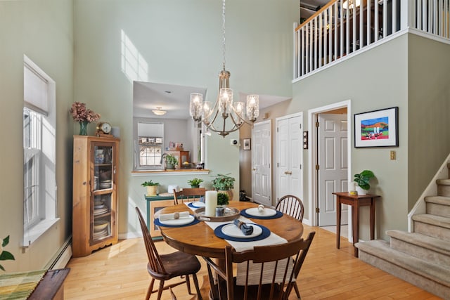
[[[450,299],[450,269],[404,254],[384,240],[358,242],[359,259],[426,291]]]

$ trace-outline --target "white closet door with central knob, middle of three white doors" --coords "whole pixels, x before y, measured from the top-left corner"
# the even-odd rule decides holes
[[[277,119],[277,198],[303,197],[302,115]]]

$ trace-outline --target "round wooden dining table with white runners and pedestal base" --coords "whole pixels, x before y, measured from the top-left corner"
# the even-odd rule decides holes
[[[283,214],[281,211],[276,211],[269,207],[264,208],[264,211],[275,213],[275,215],[259,216],[255,214],[255,210],[261,208],[259,207],[260,204],[231,201],[227,208],[234,211],[231,214],[233,218],[237,218],[245,223],[255,223],[257,227],[263,229],[262,234],[257,237],[249,239],[233,239],[233,237],[230,237],[227,240],[227,236],[223,236],[224,232],[219,233],[218,230],[224,230],[223,226],[236,227],[233,224],[233,219],[226,218],[227,220],[223,221],[221,218],[216,217],[210,218],[210,221],[204,221],[204,214],[198,212],[201,209],[193,207],[192,204],[193,202],[184,202],[158,211],[158,216],[167,216],[175,213],[179,215],[184,214],[184,216],[188,213],[191,215],[191,218],[195,216],[195,221],[187,224],[187,226],[164,226],[163,223],[159,222],[158,219],[160,218],[158,216],[155,216],[155,218],[158,218],[155,219],[155,224],[158,223],[162,238],[167,244],[181,252],[215,259],[222,270],[225,270],[225,247],[227,245],[231,245],[237,252],[242,252],[255,246],[290,242],[302,237],[303,234],[302,222],[293,218],[293,216]],[[252,214],[250,214],[250,210],[252,210]],[[235,214],[237,214],[236,217],[234,217]],[[255,226],[253,227],[255,228]],[[222,236],[219,237],[220,235]],[[211,277],[210,286],[214,286],[214,288],[210,289],[210,299],[218,299],[217,282],[212,281]]]

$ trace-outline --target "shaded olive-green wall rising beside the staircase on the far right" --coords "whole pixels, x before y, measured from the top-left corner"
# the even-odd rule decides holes
[[[408,208],[450,152],[450,45],[409,37]]]

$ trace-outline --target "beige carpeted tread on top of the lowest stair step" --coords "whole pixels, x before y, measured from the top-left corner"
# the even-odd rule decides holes
[[[358,242],[355,246],[359,251],[389,261],[390,263],[401,268],[406,268],[417,275],[429,278],[430,280],[435,280],[435,282],[439,282],[441,285],[450,287],[450,268],[429,263],[423,259],[418,259],[415,256],[392,249],[390,244],[385,240]]]

